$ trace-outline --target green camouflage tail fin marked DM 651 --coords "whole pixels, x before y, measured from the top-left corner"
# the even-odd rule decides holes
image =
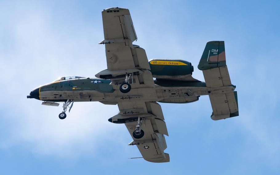
[[[199,61],[198,69],[203,71],[222,66],[226,66],[225,42],[207,42]]]

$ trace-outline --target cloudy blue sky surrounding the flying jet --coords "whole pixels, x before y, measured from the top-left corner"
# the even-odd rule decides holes
[[[0,1],[1,174],[279,174],[278,1]],[[101,11],[130,10],[148,59],[184,59],[194,78],[207,41],[223,40],[238,117],[213,121],[208,96],[161,104],[170,162],[142,159],[126,127],[107,121],[117,106],[61,107],[26,99],[63,75],[106,69]]]

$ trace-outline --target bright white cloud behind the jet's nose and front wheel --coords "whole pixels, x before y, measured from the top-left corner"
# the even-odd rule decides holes
[[[47,11],[21,12],[10,16],[14,20],[6,26],[9,32],[1,34],[1,38],[9,35],[8,39],[12,39],[12,42],[6,40],[11,44],[0,53],[4,75],[1,90],[6,92],[2,98],[8,99],[0,102],[1,109],[10,111],[1,115],[9,125],[7,137],[1,139],[1,148],[21,145],[36,155],[58,157],[94,154],[97,143],[106,142],[126,129],[107,120],[118,112],[117,106],[76,102],[67,118],[60,120],[61,105],[43,106],[41,101],[26,99],[26,95],[58,76],[94,77],[105,69],[105,47],[97,44],[103,38],[102,26],[95,31],[92,24],[83,24],[83,31],[69,28],[69,33],[77,35],[68,35],[64,34],[63,24],[53,28],[54,19]],[[5,41],[2,42],[4,45]]]

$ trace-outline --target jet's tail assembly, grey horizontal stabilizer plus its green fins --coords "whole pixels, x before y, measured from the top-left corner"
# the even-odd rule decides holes
[[[202,70],[207,88],[220,88],[235,86],[231,84],[229,71],[226,65],[226,52],[224,41],[210,41],[206,43],[205,49],[198,64]],[[221,120],[238,116],[237,92],[209,94],[213,109],[211,119]]]

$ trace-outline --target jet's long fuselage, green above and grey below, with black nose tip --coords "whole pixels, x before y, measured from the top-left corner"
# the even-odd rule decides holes
[[[190,103],[198,100],[201,95],[228,93],[235,86],[207,88],[204,82],[155,80],[156,88],[131,89],[129,93],[115,90],[110,79],[78,78],[55,81],[44,84],[30,92],[27,98],[35,98],[49,102],[99,101],[104,104],[117,104],[124,100],[140,100],[164,103]]]

